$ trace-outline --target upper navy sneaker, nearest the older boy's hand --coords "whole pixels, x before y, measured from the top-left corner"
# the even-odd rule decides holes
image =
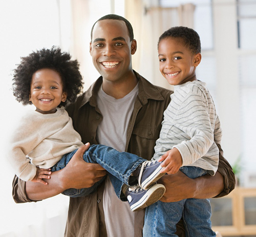
[[[137,176],[139,186],[143,189],[150,188],[151,185],[165,175],[165,173],[160,173],[161,169],[161,162],[156,160],[144,161],[141,164],[139,176]]]

